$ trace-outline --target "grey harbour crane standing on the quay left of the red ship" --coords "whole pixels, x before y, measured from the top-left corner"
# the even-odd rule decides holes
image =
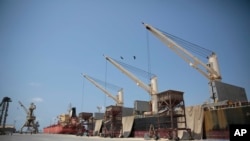
[[[23,128],[27,127],[28,130],[30,127],[33,128],[33,131],[31,131],[31,133],[37,133],[38,132],[38,126],[39,123],[36,122],[36,116],[34,115],[34,110],[36,109],[36,105],[34,103],[30,104],[29,110],[22,104],[21,101],[18,101],[18,103],[20,104],[20,106],[24,109],[25,113],[27,114],[26,116],[26,122],[24,123],[24,125],[21,128],[21,134],[23,133]]]

